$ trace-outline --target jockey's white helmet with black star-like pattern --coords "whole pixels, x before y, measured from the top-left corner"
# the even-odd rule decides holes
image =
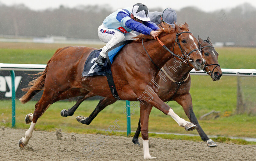
[[[142,3],[133,5],[131,12],[135,18],[141,21],[150,21],[148,7]]]

